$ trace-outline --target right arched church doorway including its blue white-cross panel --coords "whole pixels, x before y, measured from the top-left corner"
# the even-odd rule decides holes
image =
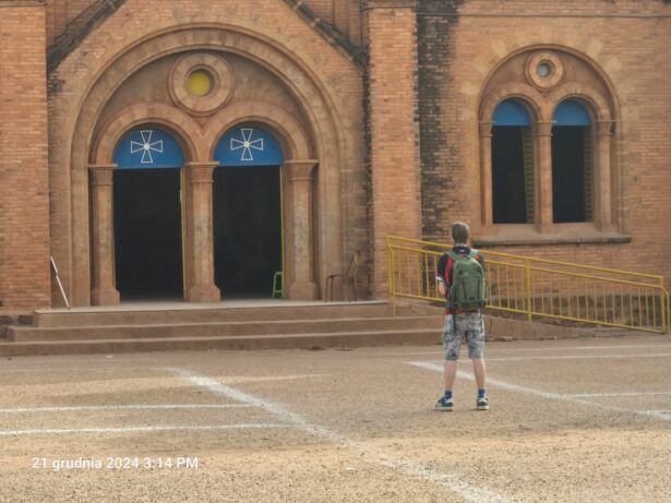
[[[284,271],[281,148],[264,128],[229,130],[215,149],[215,285],[225,297],[271,297]]]

